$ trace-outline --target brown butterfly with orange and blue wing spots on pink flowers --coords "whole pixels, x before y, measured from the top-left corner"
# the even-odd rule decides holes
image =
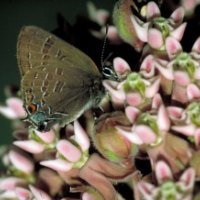
[[[74,121],[105,95],[103,76],[95,63],[39,27],[21,29],[17,61],[26,120],[40,131]]]

